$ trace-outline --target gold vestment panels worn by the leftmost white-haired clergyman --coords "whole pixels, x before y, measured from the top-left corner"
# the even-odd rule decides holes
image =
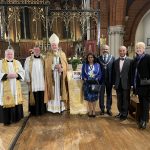
[[[19,66],[17,64],[17,60],[15,59],[13,59],[13,67],[14,67],[14,72],[17,73],[19,70]],[[6,59],[2,60],[2,72],[5,74],[9,73],[8,62]],[[11,93],[10,80],[12,79],[7,79],[6,81],[3,81],[3,97],[2,97],[3,108],[10,108],[15,106],[16,97]],[[16,80],[16,88],[17,88],[17,102],[18,104],[22,104],[23,97],[21,91],[21,84],[19,80]]]

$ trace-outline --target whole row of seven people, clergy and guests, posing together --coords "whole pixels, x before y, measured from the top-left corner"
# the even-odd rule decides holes
[[[26,81],[29,91],[29,111],[32,115],[42,115],[46,111],[61,113],[67,109],[67,58],[59,49],[59,38],[52,34],[49,39],[51,50],[45,57],[35,46],[33,54],[26,58],[24,68],[14,59],[14,50],[5,51],[0,60],[0,122],[9,125],[23,118],[23,96],[21,82]],[[95,117],[96,101],[99,99],[100,115],[112,116],[112,88],[117,94],[120,120],[127,119],[130,104],[130,91],[138,95],[141,115],[139,128],[146,128],[150,99],[150,55],[145,53],[145,44],[135,45],[136,56],[131,60],[127,48],[119,48],[119,58],[110,54],[109,46],[104,45],[102,55],[95,57],[89,53],[82,65],[84,99],[88,101],[89,117]],[[93,85],[96,91],[93,91]],[[100,87],[100,88],[99,88]],[[106,91],[106,106],[105,106]]]

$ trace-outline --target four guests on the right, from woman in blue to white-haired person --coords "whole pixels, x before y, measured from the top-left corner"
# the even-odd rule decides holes
[[[130,104],[130,91],[138,95],[140,118],[138,127],[146,128],[150,101],[150,55],[145,53],[145,44],[135,45],[135,58],[127,56],[127,48],[119,48],[119,58],[110,54],[109,46],[104,45],[102,55],[95,57],[89,53],[82,66],[84,99],[88,101],[89,117],[95,117],[95,105],[99,99],[100,115],[112,116],[112,88],[116,90],[118,114],[120,120],[126,120]],[[93,85],[101,85],[97,92],[91,90]],[[106,106],[104,103],[106,91]],[[105,110],[106,109],[106,110]]]

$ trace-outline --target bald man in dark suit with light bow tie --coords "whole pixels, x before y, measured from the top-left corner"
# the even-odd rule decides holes
[[[131,66],[132,60],[127,56],[125,46],[119,48],[119,58],[114,63],[114,84],[117,93],[117,107],[119,114],[115,117],[120,120],[127,119],[130,102]]]

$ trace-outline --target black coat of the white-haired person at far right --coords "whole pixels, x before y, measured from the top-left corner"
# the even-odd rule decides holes
[[[135,75],[136,64],[137,64],[137,59],[135,58],[133,61],[133,77]],[[140,95],[150,96],[150,85],[147,86],[140,85],[140,79],[150,79],[150,55],[149,54],[145,54],[145,56],[140,60],[137,70],[138,70],[138,77],[139,77],[137,78],[136,81],[136,85],[138,88],[137,92]]]

